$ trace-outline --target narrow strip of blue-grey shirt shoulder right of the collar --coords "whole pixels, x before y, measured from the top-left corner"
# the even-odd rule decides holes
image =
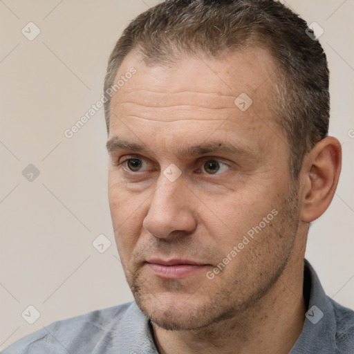
[[[354,353],[354,311],[329,300],[335,315],[335,342],[339,353]]]

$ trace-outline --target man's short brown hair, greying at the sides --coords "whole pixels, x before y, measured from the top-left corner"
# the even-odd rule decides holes
[[[133,49],[147,64],[168,66],[201,53],[220,57],[246,46],[266,48],[277,77],[270,109],[288,140],[290,171],[296,178],[305,153],[328,134],[329,123],[326,55],[306,28],[304,19],[273,0],[167,0],[124,30],[109,57],[104,92]]]

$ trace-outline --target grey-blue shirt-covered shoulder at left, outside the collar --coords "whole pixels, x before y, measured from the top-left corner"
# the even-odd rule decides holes
[[[19,339],[2,353],[90,353],[107,333],[122,329],[124,322],[138,315],[137,309],[135,302],[131,302],[53,322]]]

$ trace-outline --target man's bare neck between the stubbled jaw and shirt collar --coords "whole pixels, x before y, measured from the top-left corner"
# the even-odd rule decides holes
[[[252,308],[198,330],[165,330],[153,324],[161,354],[287,354],[304,325],[304,254],[292,257],[281,277]]]

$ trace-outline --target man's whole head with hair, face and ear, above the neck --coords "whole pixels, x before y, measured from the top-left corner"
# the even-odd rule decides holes
[[[326,55],[306,27],[271,0],[165,1],[113,49],[111,216],[158,326],[201,328],[257,304],[333,198]],[[166,276],[161,260],[198,265]]]

